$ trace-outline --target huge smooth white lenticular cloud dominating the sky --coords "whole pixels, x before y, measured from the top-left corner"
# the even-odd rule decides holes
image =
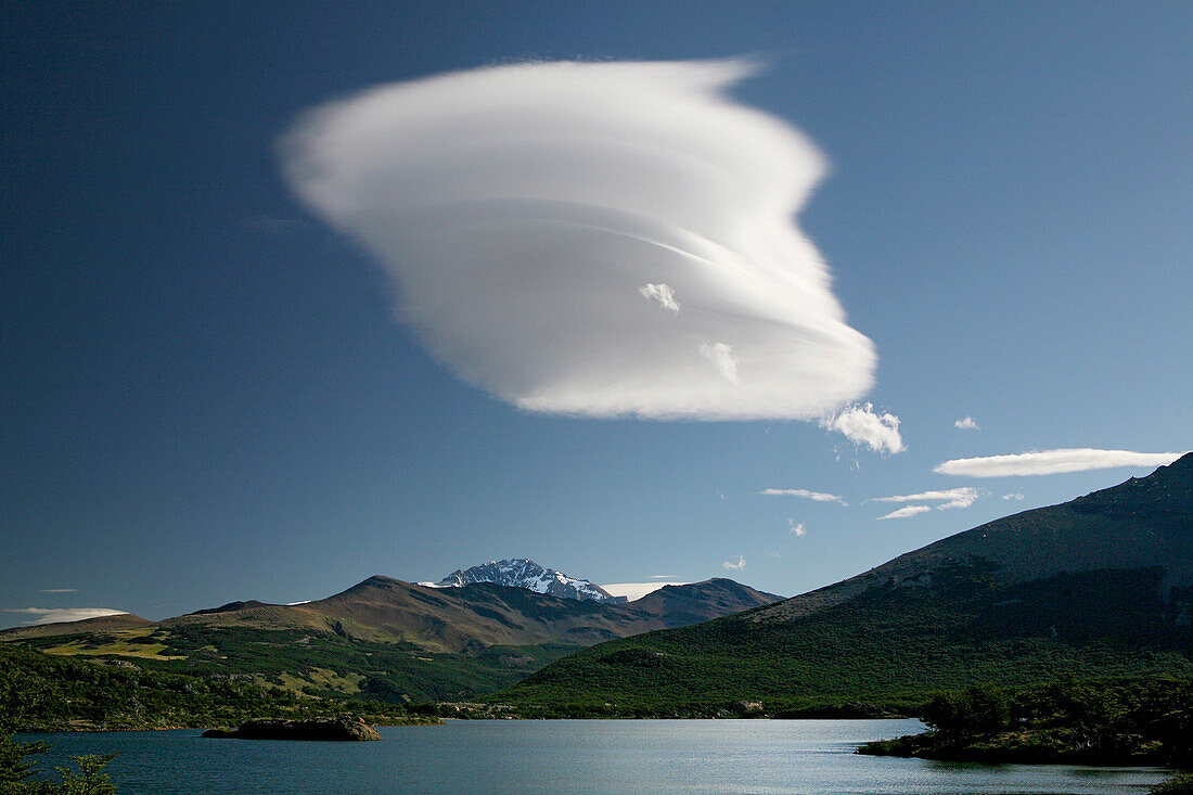
[[[308,113],[284,170],[388,267],[432,353],[502,400],[820,418],[870,389],[876,357],[793,223],[823,159],[724,95],[752,70],[551,62],[382,86]]]

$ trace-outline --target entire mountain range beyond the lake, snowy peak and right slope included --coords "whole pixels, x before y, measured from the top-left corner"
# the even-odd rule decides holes
[[[483,697],[531,715],[908,710],[971,684],[1189,676],[1193,454],[790,599],[712,579],[614,603],[556,574],[497,561],[434,586],[371,577],[305,604],[107,616],[0,641],[310,696]],[[488,578],[534,590],[466,581]],[[552,583],[569,598],[540,592]]]

